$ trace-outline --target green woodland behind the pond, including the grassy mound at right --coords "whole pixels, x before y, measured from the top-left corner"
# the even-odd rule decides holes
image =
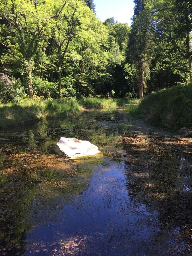
[[[129,26],[101,22],[93,0],[1,0],[1,103],[150,94],[149,121],[190,127],[192,1],[134,4]]]

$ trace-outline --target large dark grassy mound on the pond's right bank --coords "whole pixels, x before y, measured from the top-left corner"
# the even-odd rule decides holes
[[[192,124],[192,85],[174,86],[153,92],[139,104],[137,111],[150,123],[178,129]]]

